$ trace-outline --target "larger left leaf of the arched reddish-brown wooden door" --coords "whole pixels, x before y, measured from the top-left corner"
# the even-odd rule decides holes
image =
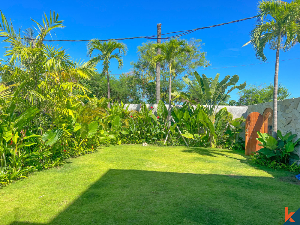
[[[251,152],[256,152],[261,149],[259,141],[256,140],[258,134],[256,131],[261,133],[265,132],[264,121],[262,115],[257,112],[250,113],[246,118],[245,126],[245,155],[250,155]]]

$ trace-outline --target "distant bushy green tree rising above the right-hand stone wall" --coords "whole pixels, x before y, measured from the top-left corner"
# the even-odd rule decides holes
[[[273,91],[274,86],[272,83],[270,85],[248,85],[246,88],[244,88],[241,91],[238,91],[239,100],[238,105],[254,105],[264,102],[271,102],[273,101]],[[288,89],[282,85],[278,85],[277,90],[277,99],[283,100],[287,99],[291,96],[291,93],[288,91]]]

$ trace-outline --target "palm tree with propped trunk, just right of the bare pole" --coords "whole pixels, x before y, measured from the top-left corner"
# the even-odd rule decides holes
[[[166,61],[169,65],[170,78],[169,78],[169,110],[168,110],[168,121],[169,126],[171,125],[170,116],[171,116],[171,82],[172,82],[172,74],[173,67],[176,62],[176,57],[185,53],[190,53],[192,49],[188,46],[185,40],[177,40],[171,39],[168,42],[164,42],[163,44],[156,44],[155,47],[157,49],[161,49],[161,55],[155,55],[152,58],[151,66],[155,67],[157,62]]]

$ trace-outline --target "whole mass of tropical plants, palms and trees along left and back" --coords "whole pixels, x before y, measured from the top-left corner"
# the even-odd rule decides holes
[[[87,46],[91,59],[76,62],[61,47],[43,42],[53,29],[63,28],[58,14],[45,15],[42,23],[34,21],[37,34],[32,29],[14,29],[1,16],[0,36],[9,47],[0,61],[0,184],[56,167],[67,158],[107,144],[146,142],[243,150],[239,133],[244,118],[233,119],[226,108],[218,107],[229,100],[230,91],[242,90],[246,83],[236,85],[238,75],[219,81],[219,74],[211,79],[190,73],[209,65],[205,52],[200,51],[200,40],[172,39],[161,45],[139,46],[139,60],[132,63],[131,73],[116,79],[109,76],[110,60],[123,66],[125,44],[92,40]],[[157,48],[161,55],[156,55]],[[94,50],[100,53],[93,55]],[[101,74],[95,69],[100,61]],[[155,101],[154,67],[158,61],[162,99],[154,112],[145,102]],[[185,72],[189,72],[183,77],[188,85],[185,89],[191,95],[179,91],[184,85],[177,78]],[[182,99],[187,101],[174,106]],[[142,104],[132,111],[123,102]]]

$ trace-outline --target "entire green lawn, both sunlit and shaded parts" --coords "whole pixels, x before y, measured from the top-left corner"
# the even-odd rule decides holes
[[[283,224],[300,185],[226,149],[122,145],[0,189],[0,224]]]

